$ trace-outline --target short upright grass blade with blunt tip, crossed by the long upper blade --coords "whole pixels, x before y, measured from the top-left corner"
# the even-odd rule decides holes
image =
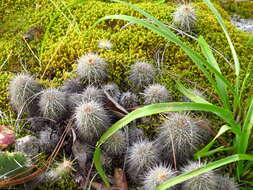
[[[201,50],[202,50],[203,54],[205,55],[207,61],[210,64],[212,64],[213,67],[215,69],[217,69],[217,71],[219,73],[221,73],[220,67],[219,67],[219,65],[218,65],[218,63],[217,63],[217,61],[216,61],[216,59],[215,59],[215,57],[214,57],[214,55],[212,53],[212,50],[208,46],[208,44],[205,41],[205,39],[202,36],[200,36],[198,38],[198,42],[199,42]],[[219,97],[221,98],[222,103],[224,104],[225,108],[226,109],[230,109],[230,104],[229,104],[229,98],[228,98],[226,84],[224,84],[224,82],[222,80],[220,80],[220,78],[217,75],[215,75],[215,78],[216,78],[216,82],[217,82],[217,88],[218,88]]]

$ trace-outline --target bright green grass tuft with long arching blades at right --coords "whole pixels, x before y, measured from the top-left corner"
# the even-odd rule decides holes
[[[248,79],[251,76],[250,71],[247,69],[244,77],[241,76],[241,64],[238,59],[235,47],[229,36],[227,27],[224,20],[222,19],[220,13],[210,2],[210,0],[204,0],[208,8],[215,15],[217,21],[220,24],[220,27],[223,30],[223,34],[227,39],[228,47],[231,51],[233,58],[233,73],[234,81],[228,80],[224,77],[220,65],[214,57],[213,51],[206,42],[206,40],[200,36],[198,37],[198,44],[202,51],[202,56],[197,51],[194,51],[191,47],[187,46],[182,40],[180,40],[177,35],[175,35],[168,27],[166,27],[161,21],[159,21],[154,16],[148,14],[144,10],[123,2],[121,0],[114,0],[114,2],[122,3],[132,9],[138,11],[143,16],[145,16],[149,21],[136,18],[134,16],[128,15],[109,15],[101,18],[97,23],[103,22],[108,19],[119,19],[128,22],[136,23],[140,26],[143,26],[150,31],[157,33],[158,35],[164,37],[169,42],[174,43],[179,46],[195,63],[195,65],[201,70],[201,72],[208,79],[208,82],[211,84],[213,89],[219,98],[219,104],[213,104],[205,100],[203,97],[200,97],[196,94],[193,94],[190,90],[186,89],[180,82],[180,78],[176,80],[178,89],[194,103],[188,102],[171,102],[171,103],[161,103],[153,104],[139,108],[127,116],[122,118],[113,124],[100,138],[97,142],[96,150],[94,154],[94,163],[95,166],[107,186],[110,186],[107,176],[101,167],[100,161],[100,146],[106,142],[106,140],[113,135],[115,132],[120,130],[122,127],[130,123],[131,121],[150,116],[162,112],[175,112],[175,111],[207,111],[209,113],[215,114],[220,119],[222,119],[225,124],[220,127],[220,131],[215,138],[222,135],[223,133],[230,131],[234,134],[233,142],[229,147],[220,146],[216,149],[210,150],[213,141],[211,141],[205,148],[195,154],[195,158],[201,158],[206,155],[213,155],[217,152],[231,151],[232,156],[227,156],[223,159],[218,159],[217,161],[212,161],[209,164],[202,166],[193,171],[183,173],[175,178],[172,178],[166,181],[164,184],[159,185],[157,190],[166,190],[176,184],[189,180],[197,175],[203,174],[205,172],[211,171],[213,169],[219,168],[226,164],[236,162],[234,172],[237,180],[239,182],[243,181],[246,184],[252,185],[251,176],[252,176],[252,161],[253,156],[250,155],[252,150],[249,146],[252,143],[251,133],[253,127],[253,95],[250,94],[250,101],[245,103],[245,99],[248,97],[244,94],[245,84],[248,83]],[[150,22],[151,21],[151,22]],[[251,63],[249,63],[250,68]],[[230,96],[229,96],[230,95]],[[245,162],[245,160],[247,160]],[[246,187],[246,186],[245,186]]]

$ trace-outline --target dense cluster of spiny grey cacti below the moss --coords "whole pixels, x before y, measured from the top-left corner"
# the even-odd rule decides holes
[[[34,105],[39,110],[36,116],[42,118],[31,118],[36,137],[27,136],[17,140],[16,150],[30,158],[39,151],[49,154],[68,121],[72,121],[72,135],[68,134],[62,148],[67,156],[77,161],[75,169],[85,173],[92,165],[97,140],[120,119],[115,112],[120,109],[130,112],[136,106],[168,102],[173,97],[165,86],[156,82],[157,71],[148,62],[137,61],[130,67],[129,83],[126,82],[129,86],[125,92],[113,81],[108,81],[108,63],[98,54],[85,54],[77,62],[77,77],[63,82],[58,88],[43,89],[32,77],[20,75],[24,82],[17,79],[11,81],[10,97],[14,107],[19,110],[27,99],[39,94]],[[23,96],[20,96],[22,93]],[[155,190],[178,173],[201,166],[192,162],[193,154],[207,143],[210,134],[198,125],[198,120],[190,113],[168,115],[152,139],[137,127],[141,122],[131,123],[126,130],[117,131],[102,144],[101,162],[107,171],[124,164],[130,183],[143,190]],[[176,171],[173,168],[175,166],[180,170]],[[64,160],[41,178],[55,181],[73,168],[71,161]],[[222,183],[217,176],[215,172],[208,173],[208,176],[203,174],[181,184],[181,188],[212,190],[229,186],[236,189],[229,179]]]

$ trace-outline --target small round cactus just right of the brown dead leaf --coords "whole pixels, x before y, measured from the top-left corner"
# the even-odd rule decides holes
[[[138,105],[138,97],[134,93],[127,91],[122,93],[119,103],[124,108],[132,108]]]

